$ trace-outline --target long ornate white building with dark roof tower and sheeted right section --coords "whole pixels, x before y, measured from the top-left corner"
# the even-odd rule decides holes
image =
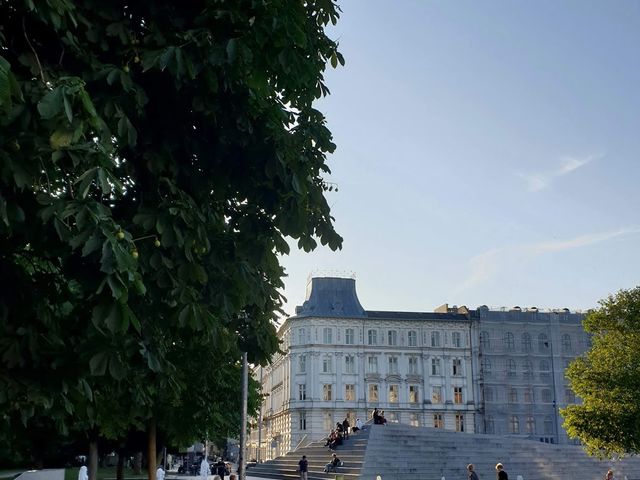
[[[563,372],[587,348],[581,320],[485,306],[367,311],[355,279],[312,278],[278,331],[285,353],[253,372],[265,401],[249,458],[322,438],[345,417],[365,422],[374,408],[390,422],[564,443],[558,409],[575,399]]]

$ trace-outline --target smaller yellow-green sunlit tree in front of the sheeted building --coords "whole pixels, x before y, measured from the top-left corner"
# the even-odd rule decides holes
[[[590,454],[640,453],[640,287],[600,301],[584,328],[592,346],[567,370],[582,404],[562,411],[564,426]]]

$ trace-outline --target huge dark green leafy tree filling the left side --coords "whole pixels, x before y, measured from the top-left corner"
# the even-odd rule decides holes
[[[344,62],[337,6],[5,0],[0,18],[3,418],[97,445],[192,402],[199,358],[233,391],[212,371],[278,350],[286,238],[341,246],[313,108]]]

